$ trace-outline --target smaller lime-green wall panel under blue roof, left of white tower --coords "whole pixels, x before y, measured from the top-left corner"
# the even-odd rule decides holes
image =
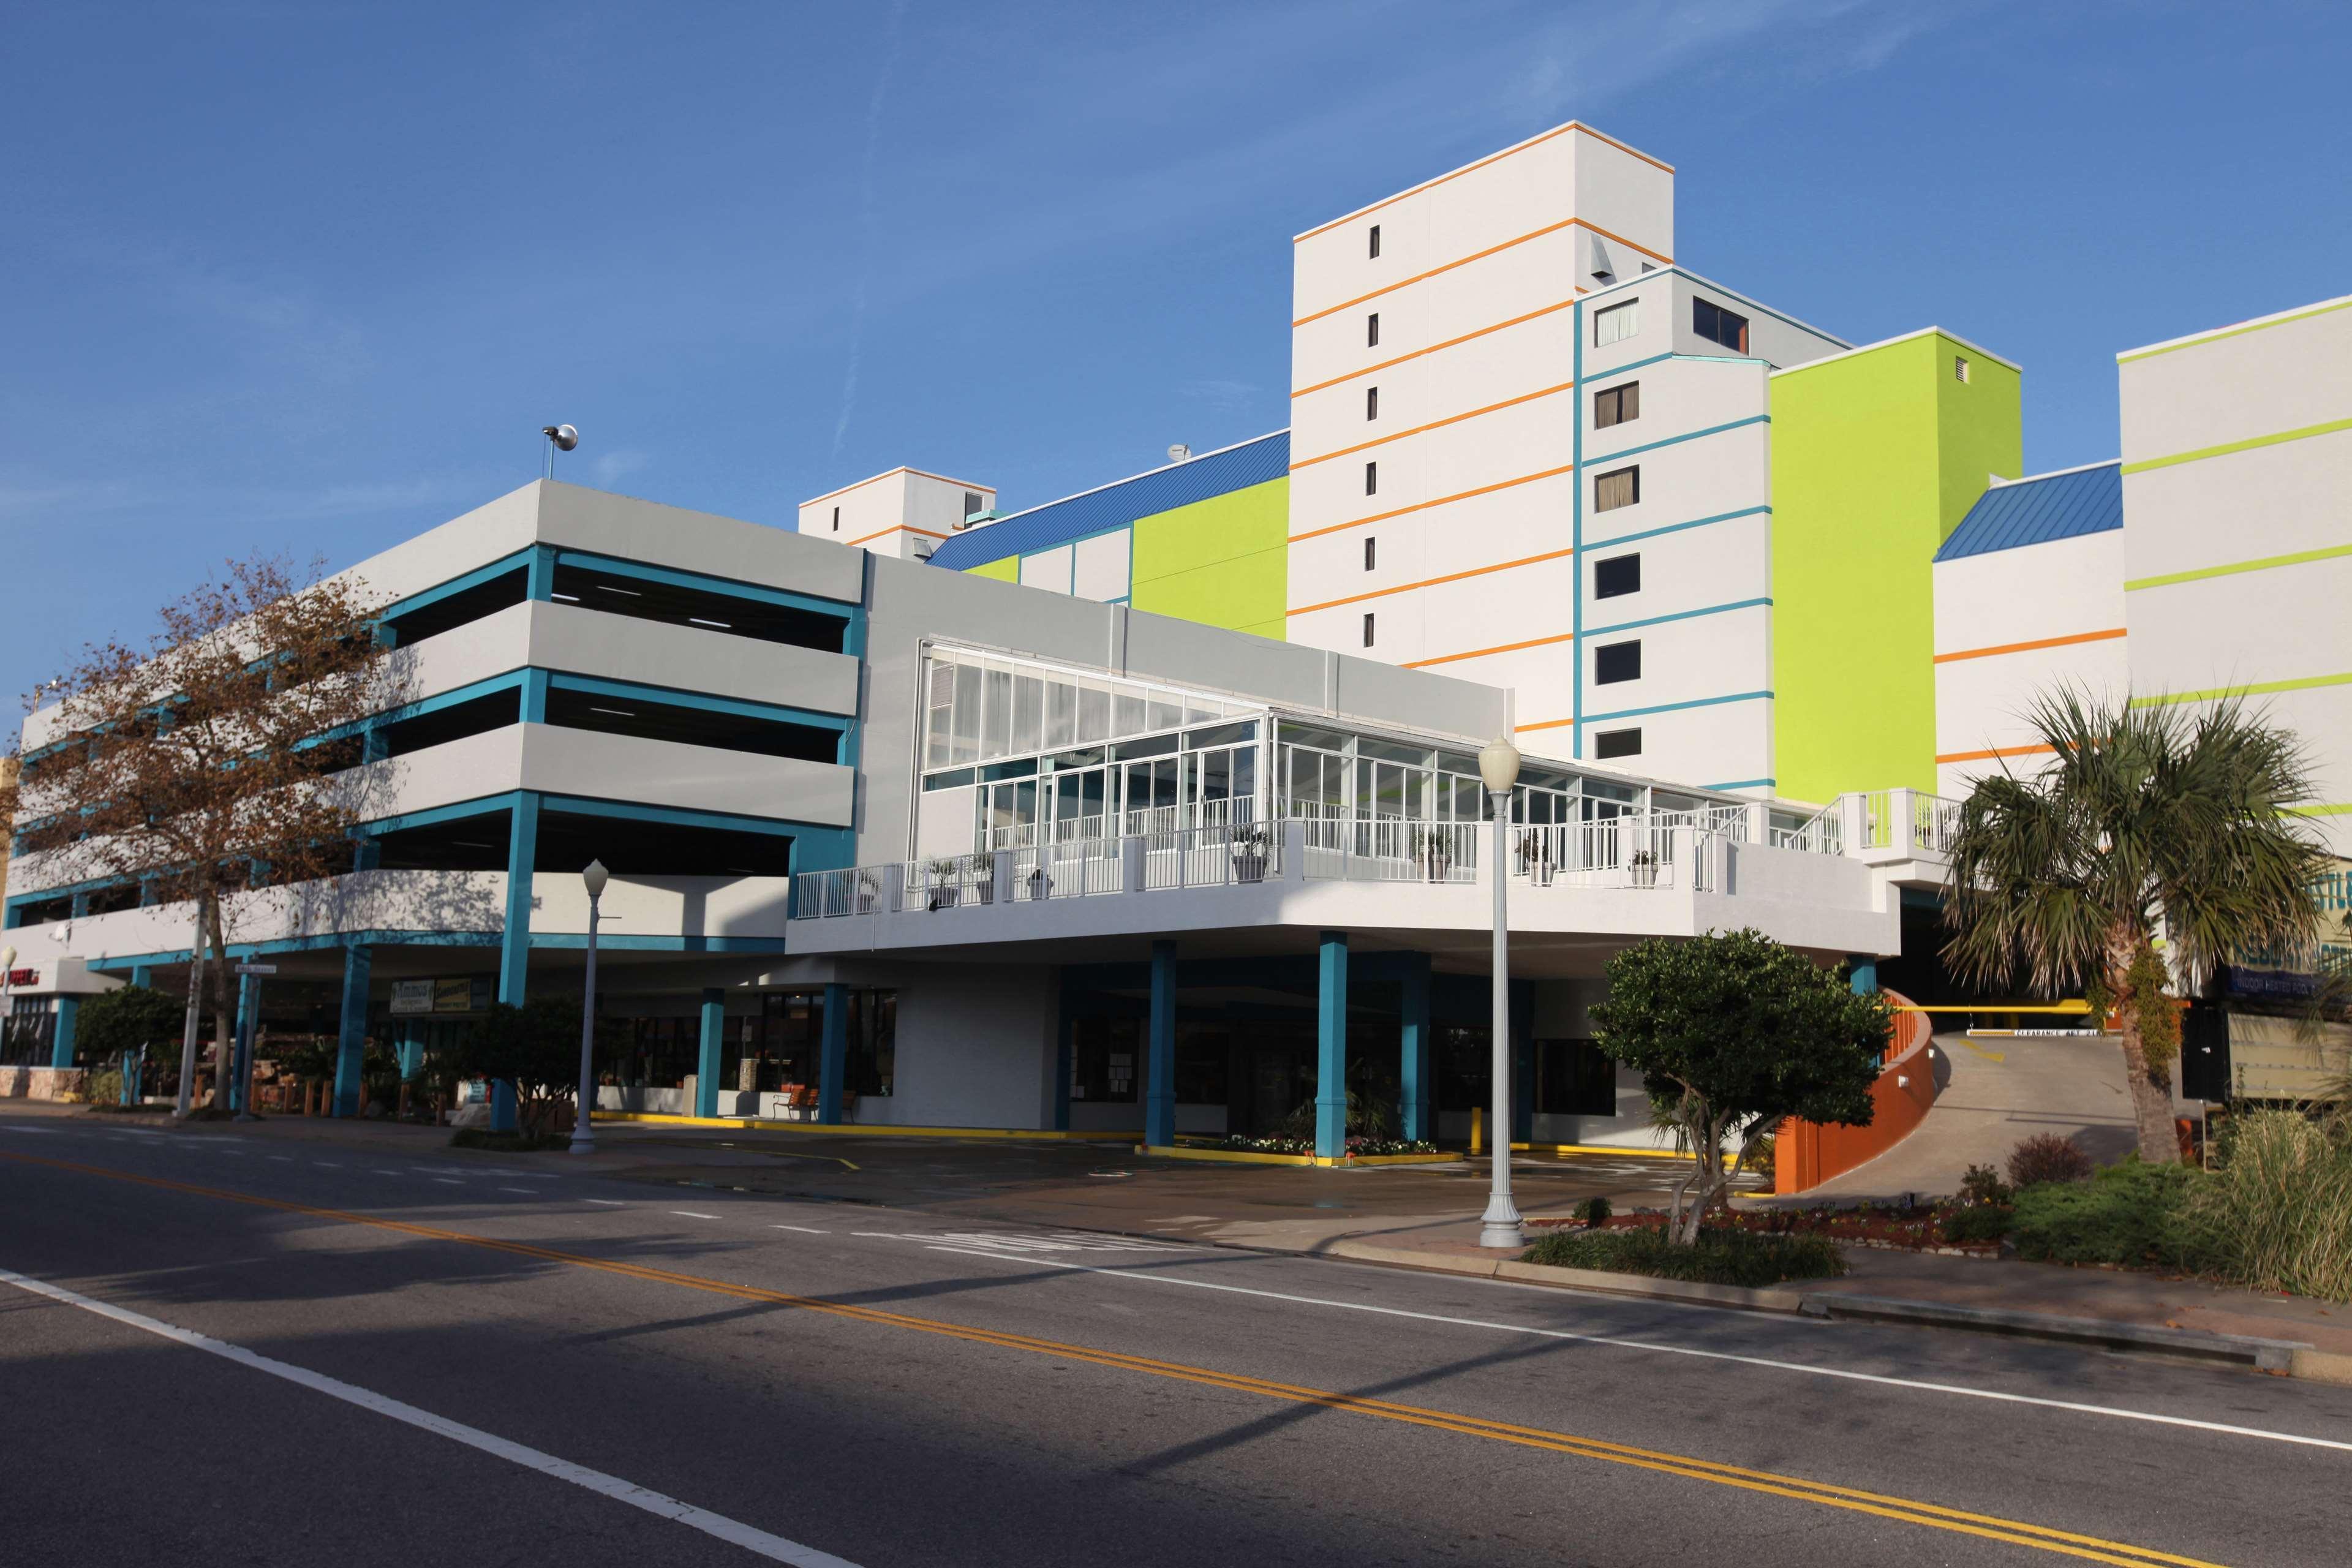
[[[1279,639],[1289,534],[1287,477],[1138,517],[1127,602],[1155,616]]]

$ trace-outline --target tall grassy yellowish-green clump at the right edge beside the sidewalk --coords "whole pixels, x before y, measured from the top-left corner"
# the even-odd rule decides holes
[[[2352,1300],[2352,1117],[2244,1112],[2220,1157],[2185,1204],[2209,1267],[2256,1291]]]

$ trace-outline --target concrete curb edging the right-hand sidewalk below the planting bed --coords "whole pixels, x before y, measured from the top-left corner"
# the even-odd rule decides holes
[[[2091,1316],[2060,1316],[2056,1312],[2006,1312],[1999,1307],[1950,1307],[1945,1302],[1900,1300],[1889,1295],[1842,1295],[1835,1291],[1792,1288],[1743,1288],[1703,1286],[1682,1279],[1651,1279],[1646,1274],[1604,1274],[1599,1269],[1564,1269],[1543,1262],[1519,1262],[1517,1258],[1463,1258],[1449,1253],[1423,1253],[1402,1246],[1378,1246],[1371,1241],[1334,1241],[1322,1251],[1327,1258],[1350,1258],[1357,1262],[1388,1262],[1406,1269],[1437,1274],[1468,1274],[1472,1279],[1512,1279],[1534,1286],[1566,1291],[1590,1291],[1599,1295],[1630,1295],[1668,1300],[1691,1307],[1731,1307],[1738,1312],[1783,1312],[1809,1319],[1853,1319],[1877,1324],[1922,1324],[1929,1328],[1964,1328],[1973,1333],[1999,1333],[2023,1340],[2058,1340],[2067,1345],[2100,1345],[2107,1349],[2138,1349],[2223,1366],[2244,1366],[2281,1378],[2307,1378],[2352,1387],[2352,1354],[2312,1349],[2300,1340],[2260,1340],[2234,1333],[2197,1333],[2192,1328],[2147,1328],[2140,1324],[2117,1324]]]

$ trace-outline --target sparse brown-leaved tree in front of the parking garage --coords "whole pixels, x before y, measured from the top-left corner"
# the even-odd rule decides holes
[[[56,712],[24,755],[21,875],[99,884],[103,905],[193,903],[179,1110],[193,1105],[207,961],[226,1105],[228,929],[266,889],[355,865],[386,785],[367,719],[400,701],[376,637],[383,604],[350,576],[299,581],[282,557],[223,562],[162,607],[146,646],[111,639],[35,696]]]

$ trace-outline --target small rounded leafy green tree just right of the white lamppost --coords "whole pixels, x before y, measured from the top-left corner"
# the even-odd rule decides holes
[[[1893,1006],[1762,931],[1651,938],[1609,959],[1592,1044],[1642,1074],[1651,1110],[1689,1145],[1670,1234],[1698,1222],[1738,1164],[1788,1117],[1867,1126]]]

